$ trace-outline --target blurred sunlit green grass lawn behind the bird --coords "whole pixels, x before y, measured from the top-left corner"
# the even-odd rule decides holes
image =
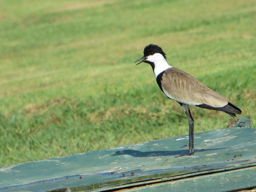
[[[255,10],[249,0],[2,1],[0,166],[188,134],[151,67],[134,64],[150,43],[255,122]],[[230,118],[198,108],[195,132]]]

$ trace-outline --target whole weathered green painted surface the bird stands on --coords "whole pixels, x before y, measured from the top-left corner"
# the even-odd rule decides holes
[[[256,187],[255,129],[246,117],[233,125],[196,133],[191,156],[175,158],[188,149],[183,147],[188,144],[184,135],[1,167],[0,191],[227,191]]]

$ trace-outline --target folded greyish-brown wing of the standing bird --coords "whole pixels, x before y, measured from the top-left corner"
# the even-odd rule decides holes
[[[222,107],[228,99],[204,86],[190,74],[175,67],[167,69],[162,75],[163,92],[167,97],[189,105],[207,104]]]

